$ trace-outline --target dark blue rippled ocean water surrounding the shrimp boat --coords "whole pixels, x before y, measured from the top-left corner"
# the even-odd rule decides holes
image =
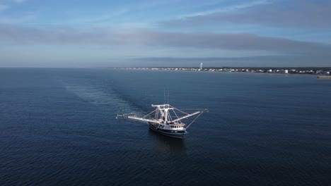
[[[116,120],[209,108],[184,140]],[[0,185],[331,185],[331,81],[0,68]]]

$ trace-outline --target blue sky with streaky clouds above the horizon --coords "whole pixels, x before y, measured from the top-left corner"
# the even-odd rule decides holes
[[[0,0],[0,67],[331,66],[331,1]]]

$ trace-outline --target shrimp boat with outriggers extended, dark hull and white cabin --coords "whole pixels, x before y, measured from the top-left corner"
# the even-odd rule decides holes
[[[143,123],[148,123],[151,130],[166,135],[169,137],[183,138],[187,134],[187,128],[208,109],[199,109],[193,113],[186,113],[180,109],[176,109],[170,104],[151,105],[156,109],[143,117],[135,116],[134,113],[118,114],[116,118],[125,118],[129,120],[137,120]],[[175,111],[178,111],[176,113]],[[154,116],[153,116],[154,114]],[[191,123],[186,126],[182,120],[196,116]]]

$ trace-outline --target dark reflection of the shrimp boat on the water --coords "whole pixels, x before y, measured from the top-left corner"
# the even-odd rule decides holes
[[[155,142],[160,151],[166,151],[175,154],[186,154],[185,140],[167,137],[149,129],[149,137],[151,141]]]

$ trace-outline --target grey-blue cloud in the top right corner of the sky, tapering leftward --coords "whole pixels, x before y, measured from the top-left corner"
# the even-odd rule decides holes
[[[295,7],[295,8],[293,8]],[[162,22],[165,27],[198,27],[217,23],[255,24],[275,27],[331,27],[330,1],[284,1],[269,4],[269,1],[255,1],[250,4],[233,6],[245,11],[212,11],[187,16],[178,20]],[[230,8],[230,9],[233,9]]]

